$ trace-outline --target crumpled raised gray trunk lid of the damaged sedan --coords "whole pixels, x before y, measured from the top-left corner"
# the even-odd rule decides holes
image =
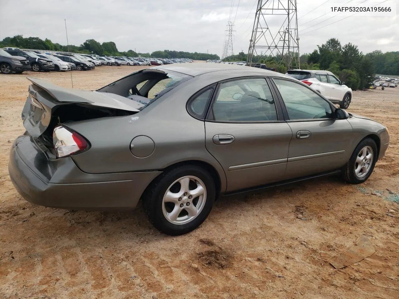
[[[53,149],[53,130],[60,124],[127,116],[139,112],[137,102],[114,94],[73,90],[47,81],[29,79],[29,94],[22,110],[26,131],[47,149]]]

